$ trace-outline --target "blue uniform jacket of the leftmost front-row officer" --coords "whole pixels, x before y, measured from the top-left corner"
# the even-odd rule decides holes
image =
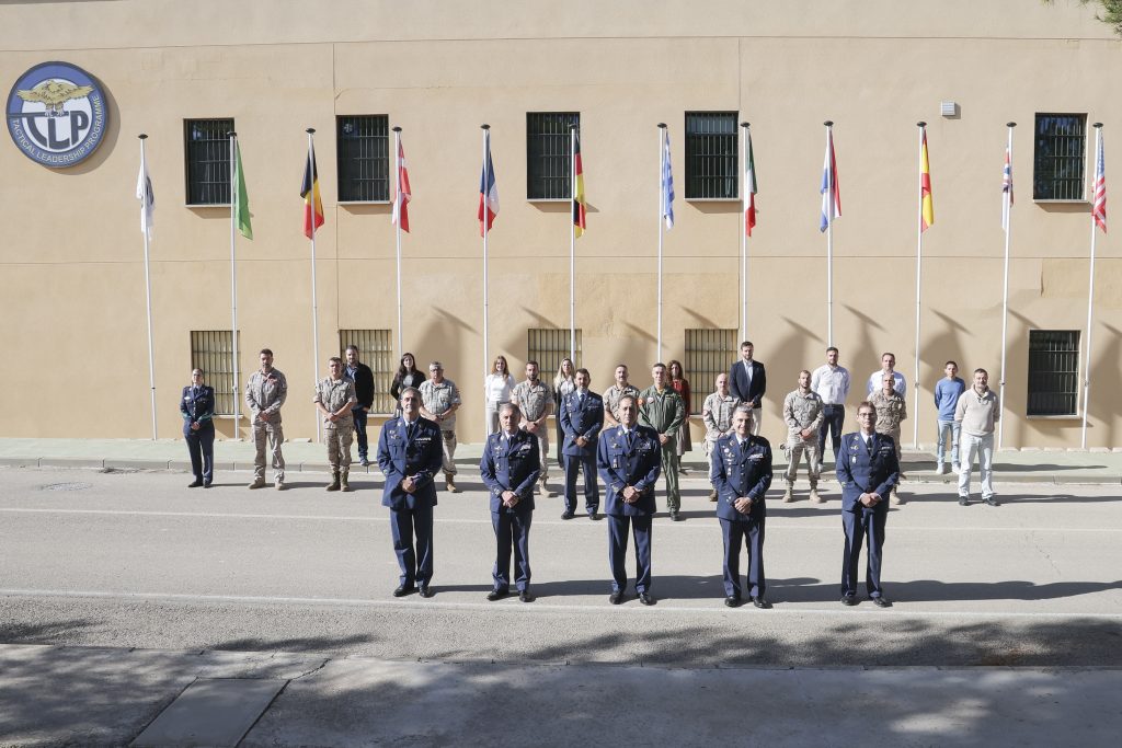
[[[413,438],[407,438],[404,418],[393,418],[381,427],[378,467],[386,475],[386,486],[381,491],[384,507],[415,509],[417,506],[436,505],[436,486],[432,477],[441,467],[440,427],[419,416],[414,432]],[[417,483],[413,493],[402,490],[406,475]]]

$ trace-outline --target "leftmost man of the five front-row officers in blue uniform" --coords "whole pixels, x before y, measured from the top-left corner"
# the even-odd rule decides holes
[[[440,428],[421,417],[421,393],[402,391],[402,415],[387,421],[378,437],[378,467],[386,477],[381,506],[389,507],[389,532],[402,575],[394,597],[417,590],[432,597],[432,509],[440,471]],[[413,538],[416,536],[416,547]]]

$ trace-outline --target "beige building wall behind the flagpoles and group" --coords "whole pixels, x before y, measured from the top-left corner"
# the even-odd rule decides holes
[[[80,166],[52,170],[4,136],[0,201],[0,436],[150,434],[137,133],[149,136],[159,435],[175,437],[190,331],[230,325],[229,209],[184,205],[183,120],[232,117],[255,239],[238,238],[241,368],[270,347],[289,382],[286,434],[314,437],[311,255],[298,196],[304,129],[318,130],[327,223],[318,234],[323,361],[338,330],[395,326],[386,204],[340,205],[334,118],[403,128],[413,231],[403,237],[403,333],[463,393],[460,437],[482,437],[479,124],[491,126],[502,211],[489,241],[486,359],[518,372],[527,327],[569,323],[568,203],[526,195],[526,112],[579,111],[588,232],[577,242],[577,324],[594,389],[618,360],[645,385],[657,357],[657,122],[670,126],[677,224],[665,234],[664,351],[683,330],[736,327],[737,202],[689,202],[684,112],[752,122],[758,225],[748,330],[767,366],[764,434],[783,396],[824,360],[826,240],[818,231],[822,121],[833,120],[843,215],[834,231],[834,325],[863,387],[884,350],[914,384],[917,128],[926,120],[936,224],[923,237],[921,442],[931,390],[956,359],[997,384],[1005,122],[1018,202],[1010,269],[1006,446],[1078,446],[1079,418],[1024,417],[1028,331],[1086,326],[1088,205],[1031,200],[1033,116],[1086,113],[1112,141],[1122,43],[1075,3],[889,0],[603,3],[314,1],[24,3],[0,7],[9,85],[61,59],[100,79],[110,130]],[[935,9],[938,16],[934,16]],[[49,24],[50,35],[27,29]],[[959,114],[939,116],[941,101]],[[1107,148],[1110,173],[1113,153]],[[1122,151],[1119,151],[1122,153]],[[1089,159],[1089,156],[1088,156]],[[1089,168],[1089,167],[1088,167]],[[1113,193],[1112,193],[1113,194]],[[1088,446],[1122,446],[1122,264],[1098,237]],[[732,360],[732,352],[730,352]],[[242,379],[245,380],[245,378]],[[710,382],[693,381],[698,398]],[[859,398],[852,396],[849,404]],[[909,395],[909,410],[914,399]],[[696,419],[697,421],[697,419]],[[911,441],[912,422],[904,423]],[[232,435],[232,423],[220,433]],[[245,434],[245,422],[241,433]],[[696,435],[700,430],[696,430]]]

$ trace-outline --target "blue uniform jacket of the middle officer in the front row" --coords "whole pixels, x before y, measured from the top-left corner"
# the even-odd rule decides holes
[[[659,434],[647,426],[632,428],[632,445],[627,446],[623,426],[613,426],[600,435],[596,450],[596,467],[607,492],[605,514],[649,516],[654,514],[654,484],[662,470]],[[634,486],[642,492],[635,504],[624,501],[623,491]]]

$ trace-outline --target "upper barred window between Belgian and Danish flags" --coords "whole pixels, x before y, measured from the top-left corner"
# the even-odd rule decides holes
[[[389,117],[348,114],[335,118],[339,201],[389,200]]]

